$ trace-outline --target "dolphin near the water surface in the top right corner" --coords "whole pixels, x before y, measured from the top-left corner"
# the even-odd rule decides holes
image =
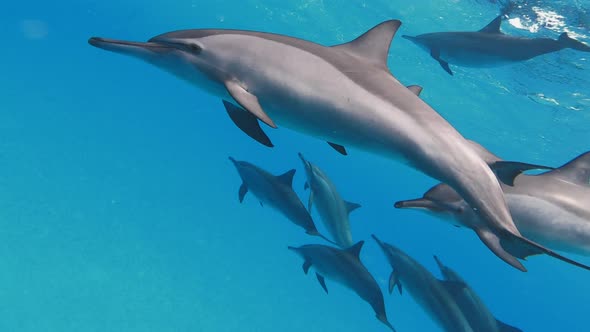
[[[590,52],[590,46],[569,37],[567,32],[559,35],[557,40],[514,37],[500,32],[501,23],[502,15],[479,31],[434,32],[402,37],[424,48],[450,75],[453,75],[453,71],[449,64],[494,67],[529,60],[564,48]]]

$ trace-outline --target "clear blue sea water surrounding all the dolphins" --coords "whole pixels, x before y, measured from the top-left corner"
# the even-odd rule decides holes
[[[301,259],[286,247],[315,238],[252,196],[238,202],[241,182],[229,155],[276,174],[297,168],[294,188],[306,200],[301,151],[345,199],[363,205],[351,215],[355,240],[376,233],[433,272],[437,254],[499,319],[524,331],[587,330],[587,271],[532,257],[529,272],[521,273],[471,232],[393,208],[396,200],[421,196],[435,180],[358,150],[340,156],[284,128],[267,130],[276,147],[265,148],[235,128],[219,100],[86,42],[95,35],[146,40],[181,28],[219,27],[336,44],[391,18],[402,20],[400,32],[409,35],[477,30],[503,4],[4,4],[0,329],[386,331],[357,295],[330,280],[326,295],[315,277],[303,274]],[[589,8],[588,1],[534,1],[512,11],[511,19],[521,21],[505,21],[502,29],[552,38],[567,29],[590,42]],[[389,66],[403,83],[423,86],[422,98],[462,134],[506,159],[560,165],[590,147],[586,54],[564,50],[508,67],[454,67],[450,77],[398,36]],[[372,240],[361,258],[385,290],[390,267]],[[385,298],[398,331],[438,331],[407,294]]]

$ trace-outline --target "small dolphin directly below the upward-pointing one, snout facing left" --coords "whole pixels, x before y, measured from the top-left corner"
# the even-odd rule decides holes
[[[313,266],[316,270],[316,277],[326,293],[328,293],[328,288],[324,278],[332,279],[350,288],[373,307],[379,321],[395,331],[387,320],[383,293],[381,293],[375,278],[360,260],[359,255],[364,243],[364,241],[357,242],[347,249],[320,244],[304,245],[299,248],[289,247],[289,249],[303,258],[303,272],[305,274]]]

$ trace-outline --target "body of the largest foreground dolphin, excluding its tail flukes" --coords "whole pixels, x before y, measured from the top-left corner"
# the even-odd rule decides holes
[[[451,185],[491,232],[520,237],[493,172],[445,119],[387,68],[401,22],[383,22],[357,39],[326,47],[243,30],[181,30],[147,43],[90,38],[96,47],[152,63],[240,105],[232,120],[272,145],[257,119],[406,161]]]

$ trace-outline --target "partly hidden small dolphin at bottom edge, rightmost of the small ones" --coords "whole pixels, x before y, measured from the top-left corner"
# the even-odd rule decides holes
[[[488,307],[481,300],[479,295],[469,287],[461,276],[453,269],[443,265],[443,263],[434,256],[443,277],[447,281],[456,282],[465,285],[464,287],[450,287],[449,294],[455,299],[469,325],[477,332],[522,332],[520,329],[505,324],[497,320],[490,312]]]

